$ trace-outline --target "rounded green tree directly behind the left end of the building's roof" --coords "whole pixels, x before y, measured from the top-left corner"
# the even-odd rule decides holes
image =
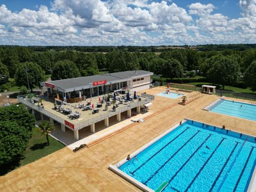
[[[80,73],[75,63],[69,60],[58,61],[52,69],[52,80],[79,77]]]

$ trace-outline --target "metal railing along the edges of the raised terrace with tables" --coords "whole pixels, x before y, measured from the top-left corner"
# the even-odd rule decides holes
[[[97,123],[100,122],[106,118],[112,117],[114,115],[117,115],[119,113],[122,113],[124,111],[127,111],[128,109],[132,109],[141,105],[145,105],[146,103],[153,101],[154,100],[154,95],[150,95],[150,94],[145,94],[142,93],[143,95],[141,95],[141,97],[143,97],[143,99],[141,99],[141,101],[134,101],[134,102],[129,102],[127,103],[127,105],[125,106],[120,106],[118,108],[115,108],[115,110],[109,110],[108,113],[104,113],[101,115],[97,115],[93,118],[87,119],[86,121],[83,121],[81,123],[76,123],[75,124],[75,129],[74,130],[80,130],[85,126],[91,125],[93,123]],[[24,103],[26,106],[33,108],[37,111],[39,111],[40,113],[53,118],[55,121],[65,124],[65,119],[62,119],[61,117],[52,114],[51,112],[45,110],[44,108],[42,108],[41,106],[36,106],[35,103],[32,103],[28,98],[27,95],[19,95],[17,97],[18,101],[20,101],[21,103]]]

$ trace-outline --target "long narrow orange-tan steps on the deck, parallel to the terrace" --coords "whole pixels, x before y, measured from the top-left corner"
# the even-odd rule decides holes
[[[172,108],[172,107],[174,107],[174,106],[176,106],[176,105],[178,105],[178,103],[174,103],[173,105],[171,105],[171,106],[169,106],[169,107],[166,107],[166,108],[164,108],[163,110],[156,111],[155,113],[153,113],[153,114],[151,114],[151,115],[145,117],[144,120],[146,121],[147,119],[149,119],[149,118],[151,118],[151,117],[153,117],[153,116],[155,116],[155,115],[158,115],[159,113],[162,113],[163,111],[166,111],[166,110],[168,110],[168,109],[170,109],[170,108]],[[113,135],[115,135],[115,134],[117,134],[117,133],[120,133],[120,132],[122,132],[122,131],[124,131],[124,130],[126,130],[126,129],[132,127],[132,126],[134,126],[134,125],[137,125],[137,124],[138,124],[138,123],[133,123],[133,124],[127,125],[127,126],[123,127],[122,129],[116,130],[115,132],[106,135],[105,137],[99,138],[99,139],[97,139],[97,140],[94,140],[94,141],[88,143],[86,146],[89,148],[89,147],[92,147],[92,146],[94,146],[94,145],[97,145],[97,144],[100,143],[101,141],[104,141],[104,140],[106,140],[106,139],[112,137]]]

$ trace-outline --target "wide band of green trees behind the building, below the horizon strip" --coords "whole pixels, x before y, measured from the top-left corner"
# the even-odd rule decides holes
[[[44,73],[49,69],[52,69],[53,80],[96,75],[99,70],[113,73],[143,69],[168,78],[181,77],[184,71],[199,70],[200,75],[209,78],[210,82],[226,82],[226,85],[235,85],[241,82],[247,83],[249,76],[255,75],[252,74],[253,70],[247,70],[254,60],[256,60],[256,50],[253,49],[245,51],[187,49],[164,51],[157,55],[155,53],[131,53],[119,49],[105,54],[77,51],[35,52],[27,47],[2,49],[0,47],[0,61],[2,62],[0,62],[0,74],[15,77],[17,85],[27,86],[27,71],[31,89],[45,80]],[[228,77],[227,74],[231,71],[230,68],[234,69],[232,77]],[[229,80],[226,81],[223,78]],[[251,82],[249,83],[248,85],[254,87]]]

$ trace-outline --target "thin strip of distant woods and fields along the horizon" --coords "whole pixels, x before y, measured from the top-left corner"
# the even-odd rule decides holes
[[[0,47],[18,47],[15,45],[0,45]],[[173,49],[196,49],[197,51],[223,51],[256,49],[256,44],[209,44],[209,45],[159,45],[159,46],[28,46],[33,51],[82,51],[82,52],[110,52],[121,50],[128,52],[163,52]]]

